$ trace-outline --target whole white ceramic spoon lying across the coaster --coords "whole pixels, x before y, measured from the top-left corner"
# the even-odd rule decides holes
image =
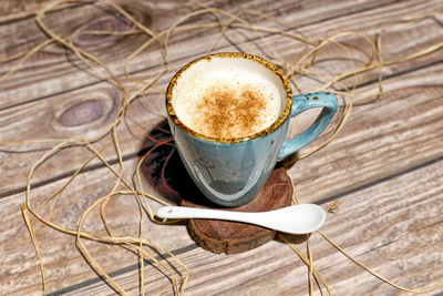
[[[291,234],[306,234],[317,231],[326,220],[324,210],[316,204],[297,204],[269,212],[233,212],[185,206],[164,206],[158,208],[161,218],[209,218],[245,222],[266,228]]]

